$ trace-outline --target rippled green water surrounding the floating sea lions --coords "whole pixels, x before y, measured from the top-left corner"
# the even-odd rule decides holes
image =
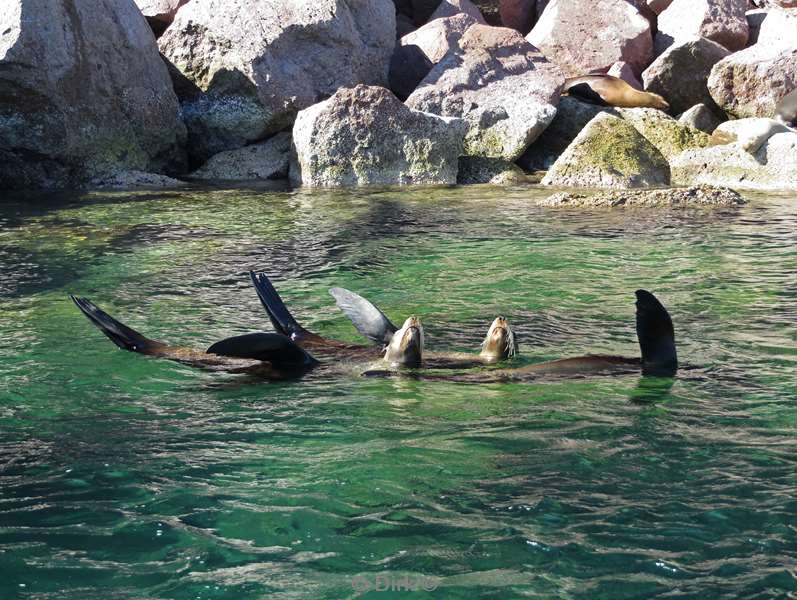
[[[0,598],[797,595],[797,197],[577,213],[545,193],[6,197]],[[249,269],[344,340],[333,285],[420,315],[433,349],[503,314],[519,364],[634,355],[644,287],[688,368],[271,384],[117,350],[67,299],[205,347],[270,328]]]

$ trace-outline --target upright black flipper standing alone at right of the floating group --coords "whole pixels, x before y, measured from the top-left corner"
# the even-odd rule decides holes
[[[636,291],[636,331],[645,374],[669,376],[678,370],[675,330],[667,309],[656,296]]]

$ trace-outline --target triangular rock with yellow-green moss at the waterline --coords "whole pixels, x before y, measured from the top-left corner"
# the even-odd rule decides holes
[[[669,183],[670,168],[656,147],[633,125],[606,113],[587,124],[542,180],[543,185],[608,188]]]

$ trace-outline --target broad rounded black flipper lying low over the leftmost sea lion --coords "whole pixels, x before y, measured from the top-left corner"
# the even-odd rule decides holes
[[[311,368],[318,361],[278,333],[247,333],[216,342],[208,354],[268,361],[275,367]]]

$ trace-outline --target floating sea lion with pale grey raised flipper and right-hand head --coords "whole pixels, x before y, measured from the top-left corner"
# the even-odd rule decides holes
[[[337,340],[324,338],[302,327],[290,313],[274,285],[264,273],[249,273],[263,308],[266,309],[274,329],[289,337],[302,348],[317,353],[319,356],[351,356],[377,357],[387,352],[390,358],[390,347],[394,343],[399,329],[385,314],[371,302],[344,288],[332,288],[330,294],[338,306],[351,319],[357,330],[373,342],[374,346],[347,344]],[[406,326],[406,323],[405,323]],[[386,350],[385,350],[386,349]],[[515,334],[503,317],[496,318],[490,326],[482,343],[479,355],[467,353],[424,352],[423,366],[427,368],[453,369],[492,364],[513,357],[517,352]],[[395,365],[394,365],[395,366]],[[403,365],[420,366],[420,365]]]

